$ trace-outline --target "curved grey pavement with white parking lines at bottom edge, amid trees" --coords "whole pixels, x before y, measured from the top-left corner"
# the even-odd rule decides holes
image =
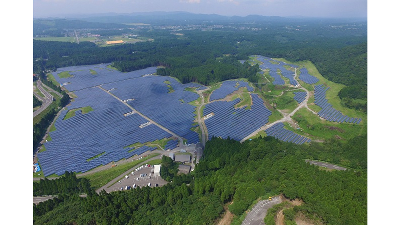
[[[260,200],[258,203],[254,205],[252,210],[248,212],[247,216],[245,217],[244,221],[242,221],[243,225],[259,225],[265,224],[264,219],[267,213],[267,209],[273,207],[273,205],[281,203],[282,200],[280,196],[273,196],[272,200]]]

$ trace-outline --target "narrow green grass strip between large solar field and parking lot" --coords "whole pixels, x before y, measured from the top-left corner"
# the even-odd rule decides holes
[[[84,175],[81,177],[89,179],[92,187],[99,188],[99,187],[105,185],[106,183],[110,182],[115,177],[121,175],[128,169],[131,169],[131,168],[135,169],[136,165],[141,164],[143,161],[146,161],[147,159],[157,156],[159,154],[160,153],[152,153],[152,154],[147,155],[146,157],[143,157],[142,159],[118,164],[115,167],[110,167],[108,169],[105,169],[105,170],[102,170],[102,171],[99,171],[99,172],[96,172],[93,174]]]

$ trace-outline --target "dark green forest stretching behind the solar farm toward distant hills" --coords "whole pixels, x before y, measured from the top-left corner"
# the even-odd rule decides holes
[[[234,62],[234,58],[247,59],[248,55],[261,54],[290,61],[310,60],[324,77],[350,88],[341,91],[343,105],[367,111],[364,97],[367,95],[366,24],[359,23],[352,29],[337,29],[330,25],[342,23],[329,19],[253,19],[261,21],[257,24],[247,24],[254,29],[239,29],[236,25],[239,26],[240,23],[233,25],[231,22],[225,27],[208,31],[181,30],[184,34],[182,37],[165,29],[136,27],[131,28],[134,31],[130,32],[149,36],[154,38],[154,41],[108,47],[97,47],[94,43],[86,41],[77,44],[34,40],[33,69],[35,73],[39,73],[70,65],[111,62],[123,72],[148,66],[163,66],[157,70],[160,75],[177,77],[183,83],[195,81],[208,85],[240,77],[256,81],[257,69]],[[41,20],[34,24],[50,27],[50,30],[54,30],[55,27],[81,27],[75,20],[55,20],[54,24],[49,25],[50,23]],[[221,23],[225,25],[230,22],[221,18]],[[97,27],[102,24],[85,21],[82,26]],[[101,32],[105,34],[102,35],[113,32],[113,23],[103,25],[104,29]],[[121,24],[114,27],[122,29],[127,26]],[[201,27],[207,27],[207,24],[204,23]],[[129,30],[118,31],[121,33]],[[354,100],[355,98],[362,101]]]

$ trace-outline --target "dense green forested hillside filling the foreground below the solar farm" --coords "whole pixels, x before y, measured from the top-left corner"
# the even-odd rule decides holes
[[[349,144],[365,151],[366,138]],[[193,176],[175,176],[161,187],[62,195],[34,205],[34,224],[211,224],[224,204],[232,202],[229,210],[237,218],[255,199],[280,193],[303,200],[294,214],[325,224],[367,223],[366,170],[321,170],[304,162],[304,147],[272,137],[242,144],[213,137],[204,153]]]

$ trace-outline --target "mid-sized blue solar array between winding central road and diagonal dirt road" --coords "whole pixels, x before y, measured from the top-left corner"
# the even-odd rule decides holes
[[[241,140],[269,121],[272,112],[263,104],[258,94],[251,93],[251,109],[246,106],[235,108],[240,98],[232,101],[214,101],[205,106],[203,116],[214,113],[205,120],[209,139],[212,136]]]

